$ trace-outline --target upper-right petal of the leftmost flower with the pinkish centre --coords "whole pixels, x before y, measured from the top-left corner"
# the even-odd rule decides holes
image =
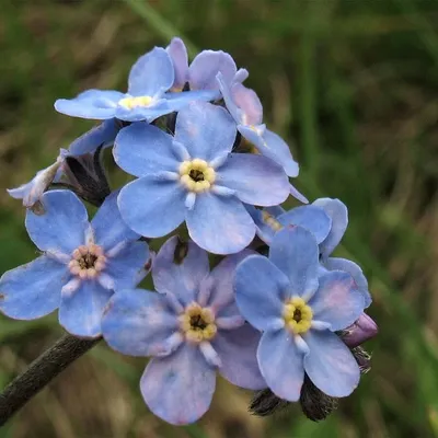
[[[91,221],[95,243],[103,246],[105,251],[122,242],[134,241],[139,238],[122,219],[117,207],[118,193],[119,191],[113,192],[106,197]]]

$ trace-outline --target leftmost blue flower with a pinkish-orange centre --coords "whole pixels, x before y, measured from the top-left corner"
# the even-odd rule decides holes
[[[146,275],[146,243],[128,229],[108,196],[91,223],[69,191],[42,197],[44,215],[27,210],[28,235],[43,252],[35,261],[0,278],[0,311],[33,320],[59,308],[59,322],[73,335],[101,334],[103,308],[114,290],[134,287]]]

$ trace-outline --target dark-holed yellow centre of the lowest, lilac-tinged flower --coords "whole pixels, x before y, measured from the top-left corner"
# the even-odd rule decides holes
[[[218,331],[211,309],[201,308],[194,302],[180,315],[180,327],[187,341],[200,343],[210,341]]]

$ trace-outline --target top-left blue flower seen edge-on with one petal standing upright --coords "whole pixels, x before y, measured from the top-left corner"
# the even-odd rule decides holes
[[[152,122],[178,111],[194,100],[212,100],[216,92],[168,93],[174,82],[174,68],[165,49],[155,47],[132,66],[128,92],[88,90],[71,100],[59,99],[55,108],[73,117]]]

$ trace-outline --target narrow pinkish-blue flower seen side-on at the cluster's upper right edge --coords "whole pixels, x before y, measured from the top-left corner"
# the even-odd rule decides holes
[[[257,151],[280,164],[288,176],[298,176],[298,163],[290,153],[289,146],[263,122],[263,106],[257,94],[240,82],[227,82],[221,73],[217,80],[228,111],[238,125],[239,132],[253,143]],[[308,200],[293,186],[291,195],[307,204]]]

